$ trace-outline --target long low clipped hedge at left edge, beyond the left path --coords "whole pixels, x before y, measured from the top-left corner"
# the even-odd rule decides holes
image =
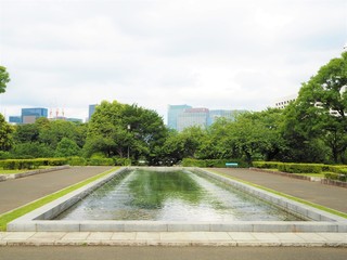
[[[5,170],[37,169],[40,166],[67,165],[66,158],[5,159],[0,160],[0,168]]]

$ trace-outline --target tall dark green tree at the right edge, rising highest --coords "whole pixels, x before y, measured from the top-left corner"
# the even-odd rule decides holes
[[[307,142],[321,139],[335,162],[347,150],[347,52],[331,60],[303,84],[288,113],[295,129]]]

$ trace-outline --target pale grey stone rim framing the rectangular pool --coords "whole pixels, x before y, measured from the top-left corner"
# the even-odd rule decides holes
[[[151,167],[151,169],[156,169]],[[160,170],[167,170],[159,168]],[[180,168],[206,174],[244,192],[260,197],[279,207],[314,221],[235,221],[235,222],[185,222],[185,221],[64,221],[51,220],[94,188],[129,168],[121,168],[75,192],[72,192],[8,224],[8,231],[26,232],[347,232],[347,219],[293,202],[254,186],[224,178],[207,170]],[[169,168],[172,170],[172,168]]]

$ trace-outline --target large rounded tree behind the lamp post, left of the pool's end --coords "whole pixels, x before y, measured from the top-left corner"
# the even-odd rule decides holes
[[[156,112],[138,105],[103,101],[88,128],[87,156],[102,152],[106,157],[146,159],[156,164],[167,135],[163,118]]]

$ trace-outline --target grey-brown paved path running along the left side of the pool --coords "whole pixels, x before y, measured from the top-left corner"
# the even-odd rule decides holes
[[[108,169],[112,167],[73,167],[0,182],[0,214]]]

